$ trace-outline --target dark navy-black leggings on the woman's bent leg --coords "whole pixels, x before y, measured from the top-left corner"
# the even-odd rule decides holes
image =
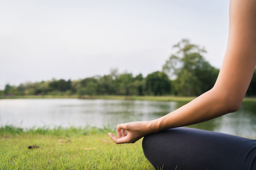
[[[144,155],[156,170],[256,170],[256,140],[194,128],[144,137]]]

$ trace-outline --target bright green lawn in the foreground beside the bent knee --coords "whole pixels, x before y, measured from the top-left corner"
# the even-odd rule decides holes
[[[153,170],[141,140],[117,145],[108,128],[0,128],[1,170]],[[29,149],[36,145],[39,148]]]

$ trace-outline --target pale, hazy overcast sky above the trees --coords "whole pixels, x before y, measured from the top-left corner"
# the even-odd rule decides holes
[[[186,38],[220,68],[229,0],[0,0],[0,89],[161,71]]]

